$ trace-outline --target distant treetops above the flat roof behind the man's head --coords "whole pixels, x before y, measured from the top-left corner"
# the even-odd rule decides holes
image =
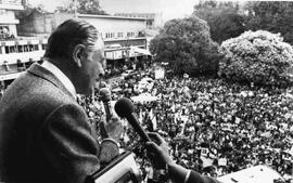
[[[75,9],[76,12],[80,14],[107,15],[107,13],[101,9],[98,0],[71,0],[68,5],[58,6],[56,12],[74,13]]]

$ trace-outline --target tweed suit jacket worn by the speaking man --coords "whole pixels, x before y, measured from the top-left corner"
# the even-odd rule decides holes
[[[0,182],[84,182],[100,169],[87,115],[62,82],[38,64],[0,101]]]

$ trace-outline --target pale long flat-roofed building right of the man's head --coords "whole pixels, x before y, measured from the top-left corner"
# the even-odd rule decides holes
[[[107,60],[133,57],[130,47],[146,48],[144,18],[117,17],[107,15],[78,15],[97,27],[105,42]]]

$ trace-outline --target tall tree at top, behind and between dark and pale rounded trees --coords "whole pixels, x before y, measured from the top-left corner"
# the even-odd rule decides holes
[[[194,5],[193,14],[207,22],[211,37],[218,43],[238,37],[246,29],[238,2],[200,1]]]

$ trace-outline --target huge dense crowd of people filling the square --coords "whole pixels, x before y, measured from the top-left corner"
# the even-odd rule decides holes
[[[135,103],[136,112],[146,131],[167,140],[177,164],[215,178],[257,165],[292,174],[293,100],[285,89],[169,77],[138,91],[140,79],[110,83],[115,88],[113,100],[141,92],[156,96]],[[84,106],[94,117],[91,101]],[[142,157],[131,128],[126,127],[120,144]]]

